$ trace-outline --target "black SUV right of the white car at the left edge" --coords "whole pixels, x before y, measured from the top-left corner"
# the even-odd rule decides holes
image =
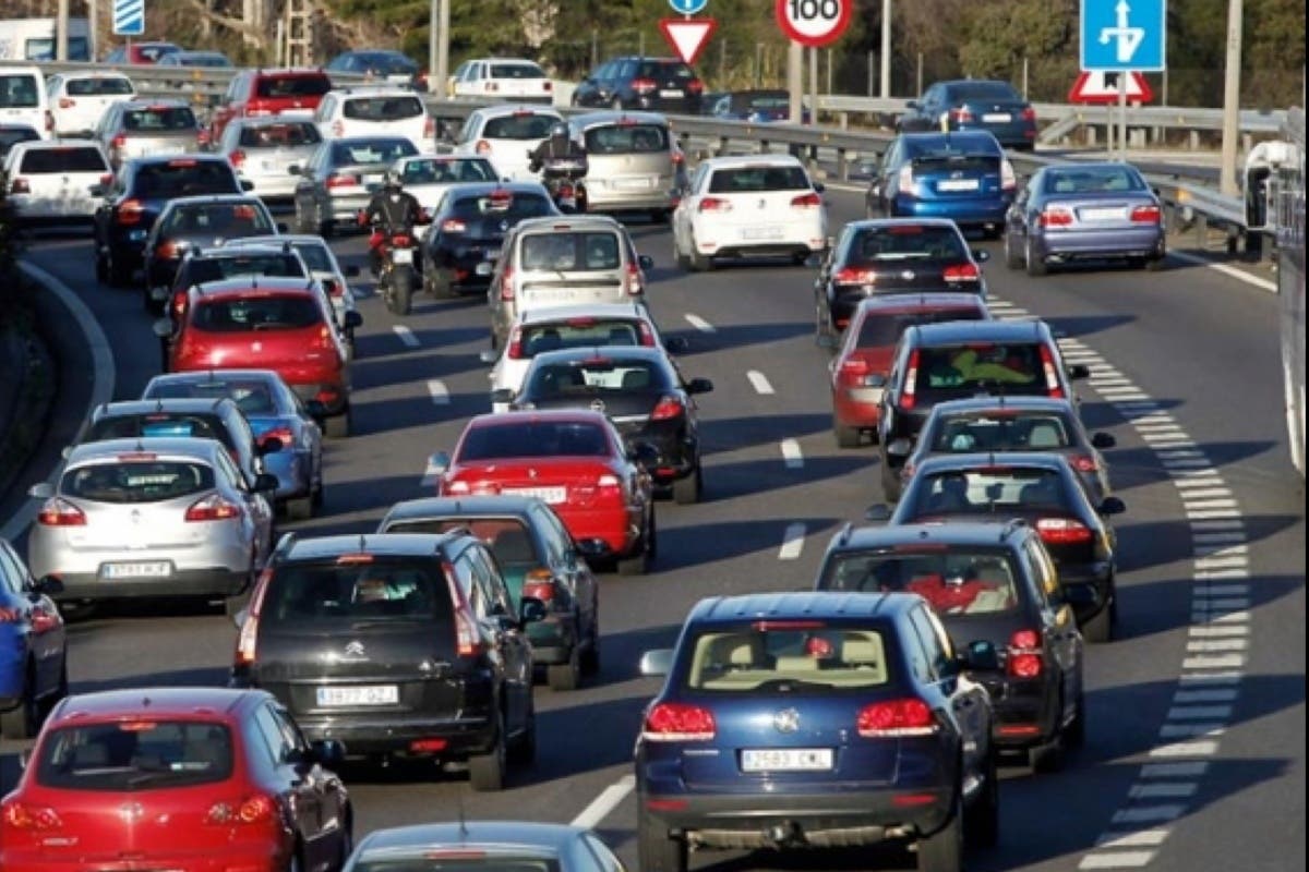
[[[200,193],[242,193],[250,187],[250,182],[237,179],[226,157],[216,154],[128,161],[110,186],[92,188],[105,197],[94,216],[96,278],[115,288],[131,284],[145,261],[145,238],[169,200]]]

